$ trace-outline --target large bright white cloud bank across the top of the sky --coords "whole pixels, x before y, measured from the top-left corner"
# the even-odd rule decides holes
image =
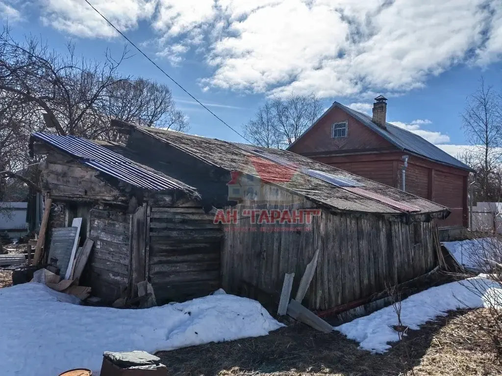
[[[0,0],[1,1],[1,0]],[[5,1],[5,0],[4,0]],[[81,0],[39,0],[44,22],[115,33]],[[401,93],[502,53],[502,0],[94,0],[120,30],[147,20],[160,55],[189,50],[214,69],[203,87],[321,97]],[[173,46],[181,46],[173,48]]]

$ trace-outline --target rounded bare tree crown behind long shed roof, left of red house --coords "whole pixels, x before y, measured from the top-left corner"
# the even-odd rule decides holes
[[[275,97],[260,107],[244,125],[245,134],[260,146],[285,148],[320,116],[322,103],[315,94]]]

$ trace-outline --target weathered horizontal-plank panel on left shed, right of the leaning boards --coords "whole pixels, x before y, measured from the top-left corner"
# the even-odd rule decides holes
[[[92,294],[113,301],[128,283],[131,215],[91,209],[89,238],[94,241],[88,268]]]

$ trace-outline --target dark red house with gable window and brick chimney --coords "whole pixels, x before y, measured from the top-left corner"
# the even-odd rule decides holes
[[[389,124],[387,99],[375,100],[372,117],[334,102],[288,150],[400,189],[404,176],[405,191],[450,208],[441,228],[467,227],[467,177],[473,170]]]

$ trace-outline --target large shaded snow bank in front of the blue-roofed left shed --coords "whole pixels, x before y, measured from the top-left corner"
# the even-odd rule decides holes
[[[149,309],[76,305],[39,283],[0,289],[0,374],[99,374],[103,351],[171,350],[267,335],[282,326],[254,300],[213,294]]]

